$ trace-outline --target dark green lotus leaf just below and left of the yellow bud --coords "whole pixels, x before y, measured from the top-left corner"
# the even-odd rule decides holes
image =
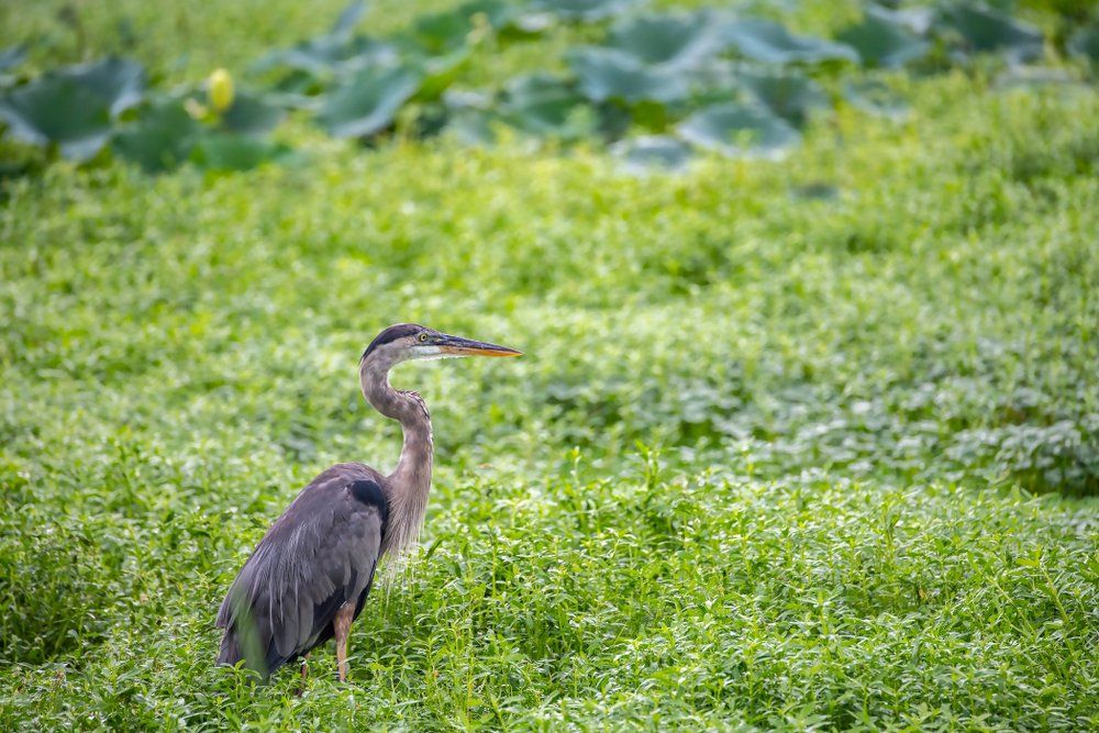
[[[163,102],[115,133],[111,147],[146,171],[157,173],[186,160],[201,129],[178,100]]]

